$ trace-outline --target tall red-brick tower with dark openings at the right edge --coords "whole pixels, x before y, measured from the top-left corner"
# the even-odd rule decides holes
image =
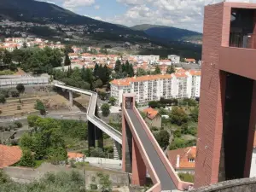
[[[256,3],[205,8],[195,188],[248,177],[256,123]]]

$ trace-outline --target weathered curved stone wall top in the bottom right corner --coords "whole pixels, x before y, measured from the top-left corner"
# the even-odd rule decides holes
[[[256,177],[242,178],[221,183],[215,183],[207,187],[193,189],[191,192],[254,192],[256,191]]]

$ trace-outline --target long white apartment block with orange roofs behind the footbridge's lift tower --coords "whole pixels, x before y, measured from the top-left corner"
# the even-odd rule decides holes
[[[137,103],[159,101],[160,98],[195,98],[200,96],[201,73],[184,71],[175,74],[146,75],[126,79],[114,79],[111,96],[122,102],[124,93],[136,93]],[[195,76],[195,77],[194,77]]]

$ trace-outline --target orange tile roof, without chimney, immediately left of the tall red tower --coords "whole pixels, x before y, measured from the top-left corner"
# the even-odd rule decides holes
[[[179,167],[177,167],[177,155],[179,155]],[[196,157],[196,147],[178,148],[168,151],[168,159],[173,167],[177,169],[192,169],[195,168],[195,161],[189,162],[189,159]]]

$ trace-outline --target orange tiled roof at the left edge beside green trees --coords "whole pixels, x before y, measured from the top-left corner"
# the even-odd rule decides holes
[[[22,151],[18,146],[7,146],[0,144],[0,169],[6,166],[12,166],[22,156]]]

